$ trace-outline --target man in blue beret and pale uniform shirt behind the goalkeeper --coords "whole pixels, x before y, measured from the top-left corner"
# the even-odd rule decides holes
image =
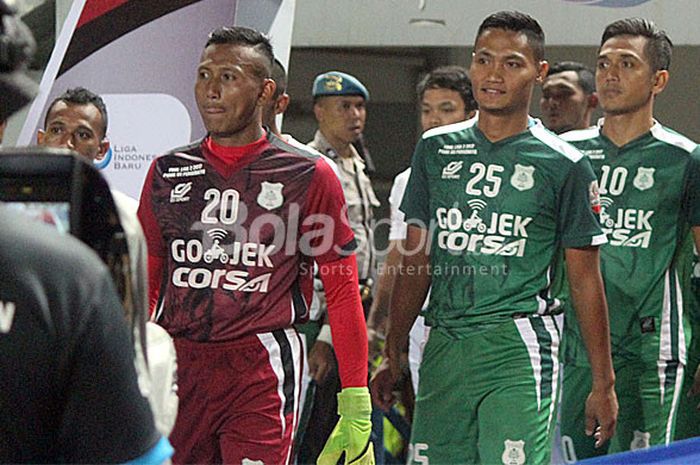
[[[376,272],[373,237],[373,209],[379,206],[365,162],[353,143],[357,142],[365,128],[367,117],[366,102],[369,100],[367,88],[354,76],[340,71],[328,71],[316,77],[312,95],[314,115],[318,130],[309,146],[328,156],[338,165],[340,182],[348,206],[350,227],[355,233],[359,287],[365,311],[371,303],[371,285]],[[318,284],[318,280],[316,281]],[[322,289],[319,289],[322,291]],[[325,306],[322,292],[315,298]],[[312,315],[312,318],[314,316]],[[323,315],[319,322],[323,321]],[[300,329],[307,333],[307,340],[313,340],[313,330]],[[309,374],[316,382],[314,407],[304,432],[304,444],[300,450],[301,463],[314,462],[320,447],[337,422],[336,392],[339,381],[335,357],[333,355],[330,331],[327,325],[321,331],[309,353]]]

